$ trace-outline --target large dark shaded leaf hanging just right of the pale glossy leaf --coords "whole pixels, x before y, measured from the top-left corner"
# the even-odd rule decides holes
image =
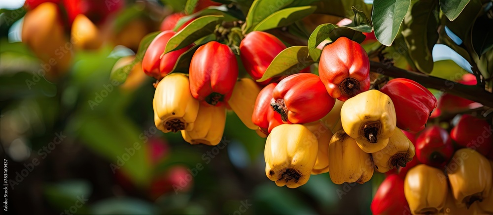
[[[431,52],[438,40],[438,14],[436,1],[416,0],[404,19],[402,35],[409,56],[418,70],[426,73],[433,69]]]

